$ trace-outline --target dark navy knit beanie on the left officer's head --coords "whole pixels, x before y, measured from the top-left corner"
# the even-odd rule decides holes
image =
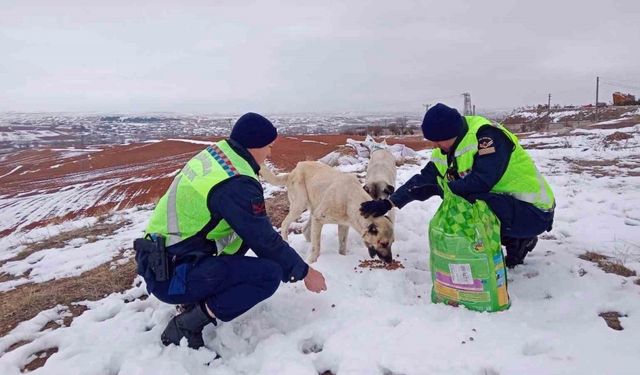
[[[233,125],[229,138],[245,148],[261,148],[276,140],[278,131],[271,121],[257,113],[242,115]]]

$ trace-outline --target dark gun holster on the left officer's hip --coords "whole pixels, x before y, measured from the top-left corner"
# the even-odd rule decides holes
[[[147,268],[153,272],[155,281],[167,281],[169,274],[169,254],[164,245],[164,237],[159,234],[147,234],[144,238],[133,241],[133,249],[136,251],[137,272],[148,277]],[[147,266],[144,267],[146,261]]]

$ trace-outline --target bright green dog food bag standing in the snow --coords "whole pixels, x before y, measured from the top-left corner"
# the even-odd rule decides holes
[[[429,223],[431,300],[477,311],[510,306],[500,221],[484,201],[469,203],[451,192]]]

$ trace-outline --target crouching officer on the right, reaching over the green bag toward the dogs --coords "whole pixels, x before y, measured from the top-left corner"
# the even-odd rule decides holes
[[[555,198],[518,138],[500,124],[460,116],[441,103],[425,114],[422,132],[436,147],[431,161],[389,199],[364,202],[362,214],[384,215],[394,206],[442,196],[437,177],[444,177],[455,194],[488,204],[500,219],[507,267],[522,264],[537,236],[551,230]]]

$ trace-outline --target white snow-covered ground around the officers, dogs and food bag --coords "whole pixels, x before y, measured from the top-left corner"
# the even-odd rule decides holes
[[[432,198],[397,213],[394,253],[404,269],[357,267],[367,258],[358,235],[350,233],[350,252],[341,256],[337,227],[325,226],[314,267],[324,273],[328,291],[316,295],[302,283],[283,284],[235,321],[207,327],[208,348],[162,346],[160,333],[175,309],[153,296],[140,298],[146,291],[138,279],[126,292],[83,303],[89,309],[69,327],[41,331],[69,314],[64,306],[20,324],[0,338],[0,374],[19,374],[34,353],[49,348],[58,351],[34,374],[638,374],[638,277],[605,273],[578,258],[595,251],[640,273],[640,125],[615,131],[633,138],[605,147],[604,137],[614,130],[590,130],[560,141],[550,135],[523,141],[538,147],[530,153],[558,206],[553,231],[509,272],[508,311],[477,313],[430,302],[427,224],[440,203]],[[421,165],[400,167],[399,183],[428,160],[428,151],[418,154]],[[345,169],[364,171],[365,164]],[[149,213],[127,213],[135,224],[103,243],[47,251],[56,266],[42,267],[39,277],[73,274],[78,262],[65,260],[84,253],[82,261],[92,263],[100,257],[96,247],[113,254],[142,230]],[[46,233],[39,231],[31,236]],[[8,247],[19,251],[19,235],[29,234],[0,239],[0,259],[11,256]],[[310,250],[302,235],[291,235],[290,242],[303,256]],[[29,258],[10,267],[20,262]],[[624,330],[607,327],[598,316],[606,311],[624,316]],[[22,340],[29,343],[9,350]],[[222,359],[212,361],[215,353]]]

